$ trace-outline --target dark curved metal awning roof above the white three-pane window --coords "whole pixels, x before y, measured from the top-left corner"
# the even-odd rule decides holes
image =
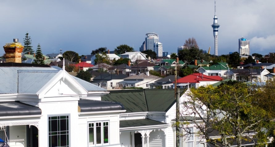
[[[124,107],[121,103],[101,100],[80,99],[78,101],[78,106],[80,108],[80,112],[124,110]]]

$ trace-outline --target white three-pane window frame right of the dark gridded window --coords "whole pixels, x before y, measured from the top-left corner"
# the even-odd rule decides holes
[[[98,123],[101,123],[101,126],[100,126],[100,137],[101,137],[101,143],[96,143],[96,127],[97,127],[97,124]],[[107,125],[106,125],[107,123]],[[91,125],[90,125],[91,124]],[[94,126],[92,127],[92,124],[94,124]],[[107,143],[104,143],[104,126],[107,126],[108,127],[108,142]],[[110,121],[92,121],[92,122],[88,122],[88,125],[87,125],[87,128],[88,128],[88,146],[102,146],[102,145],[110,145]],[[93,128],[93,131],[94,131],[94,143],[90,143],[90,128]]]

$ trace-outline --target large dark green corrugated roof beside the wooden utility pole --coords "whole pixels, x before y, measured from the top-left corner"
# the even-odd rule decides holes
[[[176,102],[174,89],[111,90],[101,100],[123,104],[126,113],[167,112]]]

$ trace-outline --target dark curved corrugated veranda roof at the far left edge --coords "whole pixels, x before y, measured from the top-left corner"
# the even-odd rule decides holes
[[[41,115],[41,109],[18,101],[0,102],[0,117]]]

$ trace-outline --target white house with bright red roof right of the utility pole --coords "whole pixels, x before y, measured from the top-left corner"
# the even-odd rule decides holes
[[[200,86],[206,86],[215,84],[223,79],[220,76],[206,76],[202,73],[194,73],[183,78],[177,79],[178,88],[198,88]],[[173,82],[173,88],[175,88],[175,82]]]

